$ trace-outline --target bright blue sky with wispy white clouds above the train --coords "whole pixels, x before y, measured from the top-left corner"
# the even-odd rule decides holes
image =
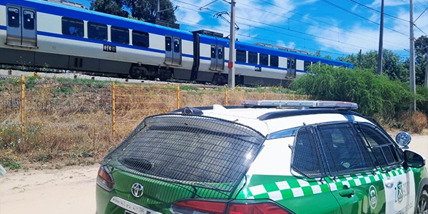
[[[73,1],[73,0],[71,0]],[[89,7],[91,0],[74,0]],[[156,0],[153,0],[156,1]],[[170,0],[185,31],[230,35],[231,0]],[[235,0],[235,37],[332,58],[379,49],[381,0]],[[413,0],[414,37],[428,34],[428,0]],[[409,58],[409,0],[384,0],[383,47]],[[222,14],[219,16],[219,14]],[[223,19],[224,18],[224,19]]]

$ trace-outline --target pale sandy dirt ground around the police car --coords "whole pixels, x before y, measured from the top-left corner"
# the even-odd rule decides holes
[[[428,157],[428,135],[413,135],[409,148]],[[93,214],[98,166],[9,172],[0,178],[0,214]]]

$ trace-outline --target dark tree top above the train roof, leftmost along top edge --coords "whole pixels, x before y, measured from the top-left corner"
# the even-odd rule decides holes
[[[123,9],[122,0],[95,0],[91,1],[90,9],[105,14],[127,17],[128,12]]]

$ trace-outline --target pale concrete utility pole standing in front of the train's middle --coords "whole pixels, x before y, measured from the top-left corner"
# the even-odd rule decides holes
[[[235,88],[235,0],[230,1],[229,88]]]

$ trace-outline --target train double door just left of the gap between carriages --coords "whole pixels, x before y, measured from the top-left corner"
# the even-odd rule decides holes
[[[165,36],[165,64],[181,65],[181,39],[175,36]]]

